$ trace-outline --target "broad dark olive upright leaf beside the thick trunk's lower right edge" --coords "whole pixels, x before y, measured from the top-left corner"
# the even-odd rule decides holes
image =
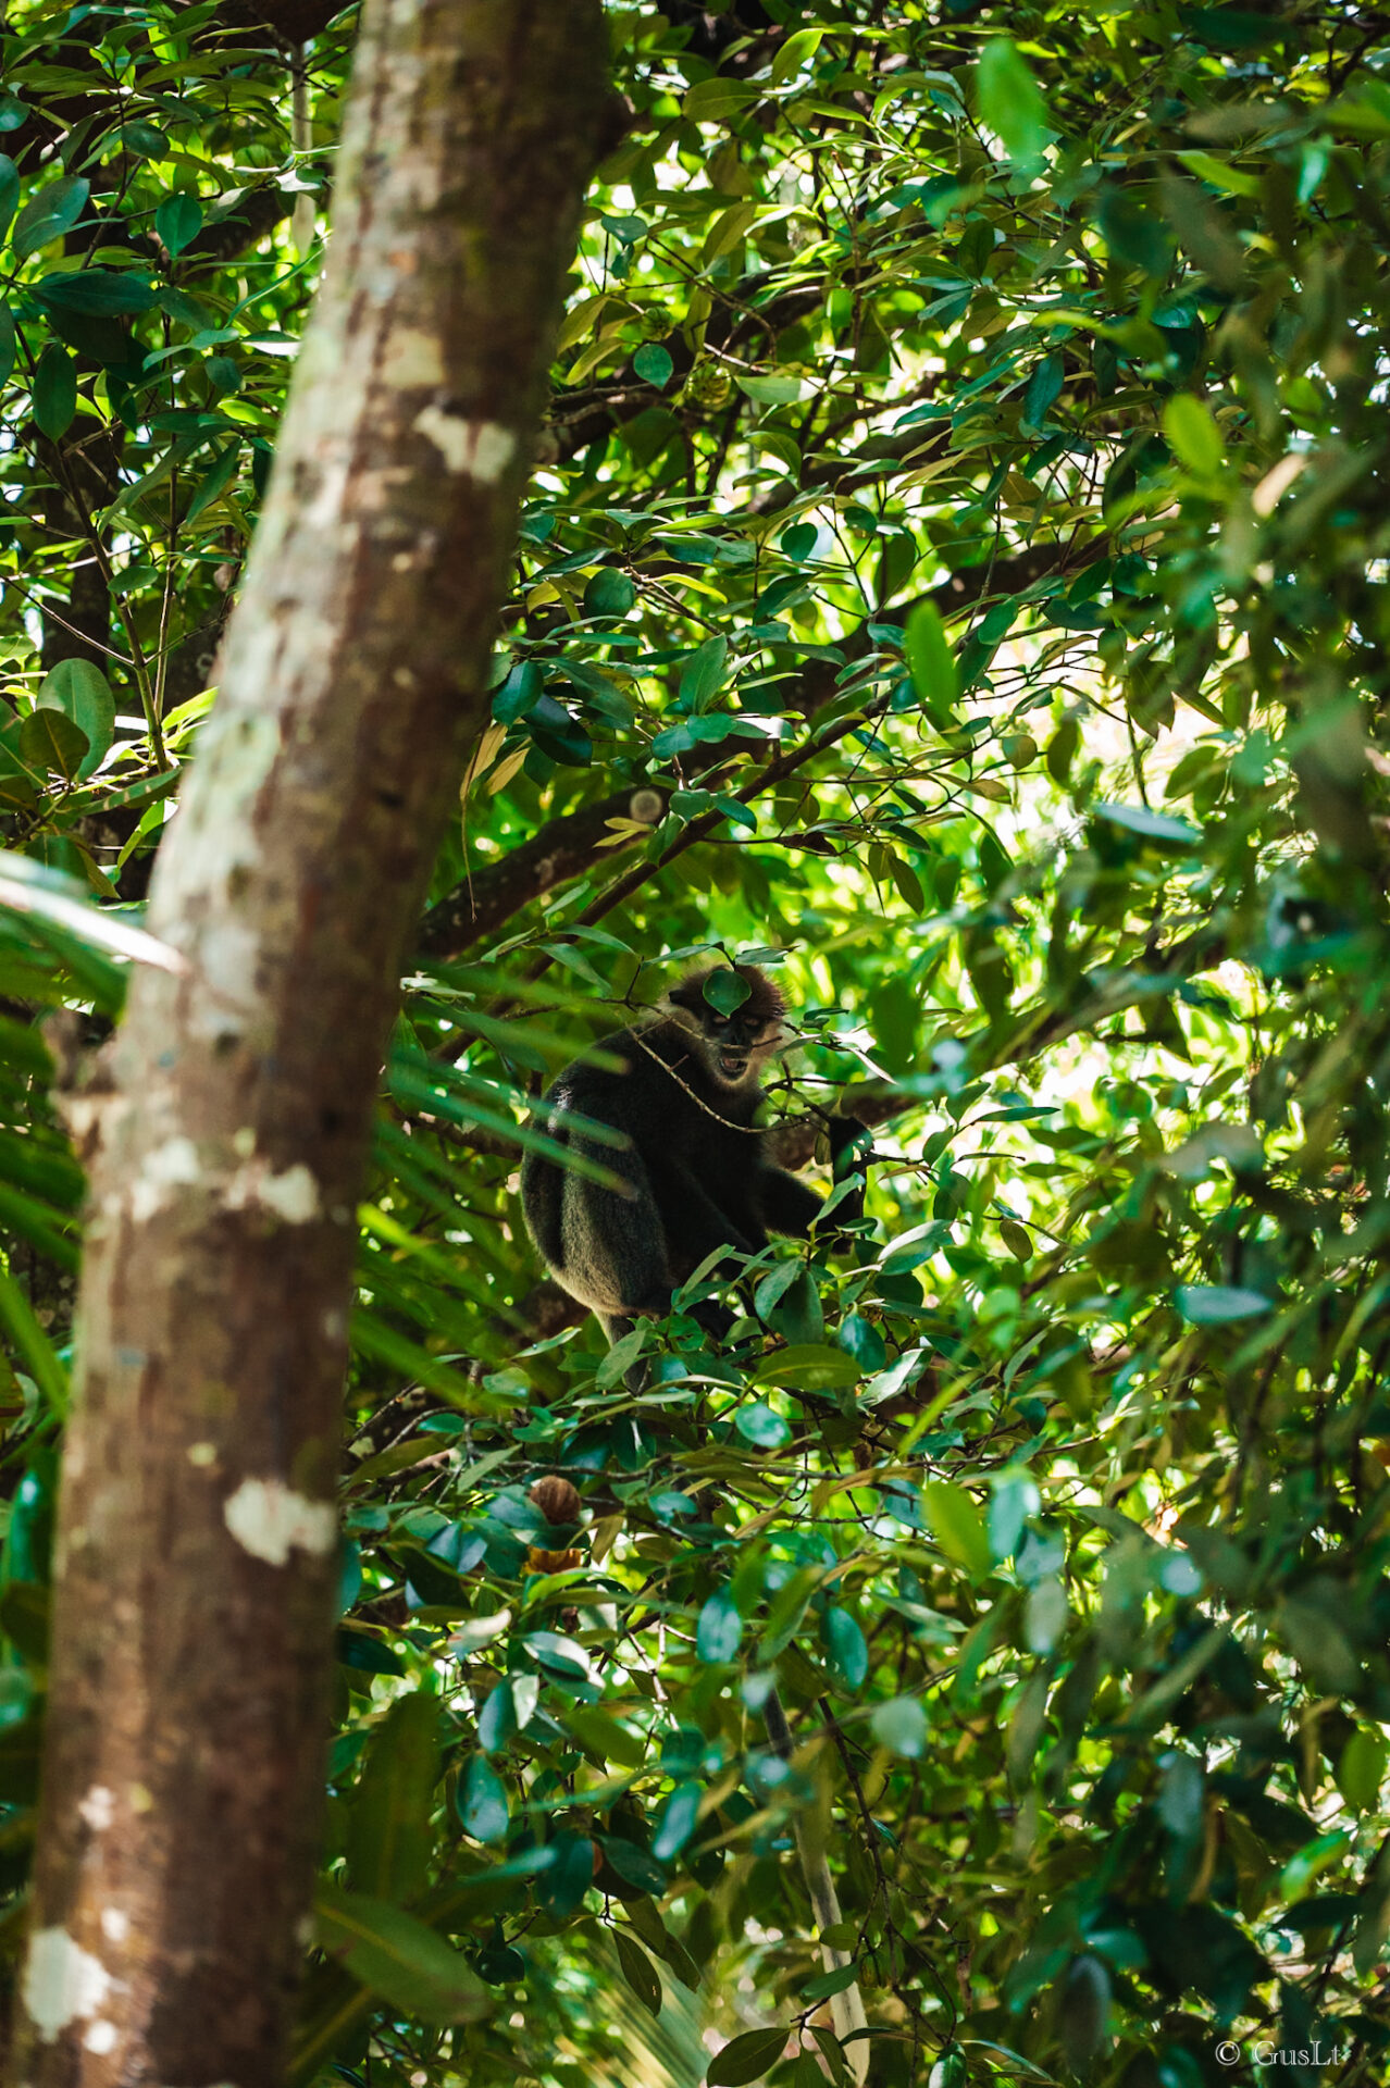
[[[424,1892],[438,1746],[438,1700],[424,1689],[397,1698],[374,1731],[349,1812],[346,1858],[357,1892],[384,1900]]]

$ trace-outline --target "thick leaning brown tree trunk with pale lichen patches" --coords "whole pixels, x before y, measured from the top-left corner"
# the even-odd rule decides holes
[[[367,0],[326,286],[92,1140],[17,2080],[280,2080],[372,1098],[484,714],[599,0]]]

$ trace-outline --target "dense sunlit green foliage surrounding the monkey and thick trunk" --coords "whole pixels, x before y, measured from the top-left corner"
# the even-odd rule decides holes
[[[81,1201],[50,1046],[115,1015],[196,760],[353,27],[8,8],[10,1946]],[[1380,2080],[1384,23],[612,29],[630,129],[361,1209],[298,2080],[843,2082],[793,1814],[885,2088],[1198,2088],[1223,2040]],[[718,1353],[647,1330],[634,1397],[516,1157],[710,950],[787,992],[789,1148],[874,1125],[870,1224],[760,1257]]]

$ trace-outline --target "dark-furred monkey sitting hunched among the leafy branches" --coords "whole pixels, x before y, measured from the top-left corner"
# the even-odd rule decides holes
[[[718,1247],[753,1255],[768,1232],[806,1236],[820,1196],[774,1167],[751,1121],[762,1100],[762,1067],[783,1048],[783,996],[751,965],[739,965],[747,1000],[720,1015],[705,1000],[716,967],[691,973],[657,1019],[603,1038],[622,1073],[568,1065],[545,1096],[551,1134],[599,1161],[630,1192],[601,1188],[543,1155],[522,1163],[526,1226],[555,1282],[589,1305],[609,1340],[634,1315],[670,1311],[676,1290]],[[566,1113],[622,1132],[626,1148],[601,1146],[566,1123]],[[839,1153],[860,1125],[833,1119]],[[854,1199],[837,1217],[852,1217]],[[722,1307],[695,1313],[712,1332],[728,1326]]]

